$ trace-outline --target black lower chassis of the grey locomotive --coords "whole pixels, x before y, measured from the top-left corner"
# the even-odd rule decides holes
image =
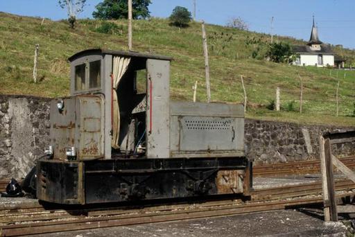
[[[130,200],[191,198],[225,194],[218,172],[247,171],[244,195],[251,184],[247,159],[110,159],[42,160],[37,163],[41,200],[62,204],[94,204]],[[249,173],[250,172],[250,173]],[[230,193],[230,192],[227,192]]]

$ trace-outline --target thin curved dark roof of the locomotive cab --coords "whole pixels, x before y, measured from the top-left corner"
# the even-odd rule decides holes
[[[125,57],[131,57],[131,58],[150,58],[150,59],[156,59],[156,60],[168,60],[171,61],[173,58],[164,56],[164,55],[157,55],[157,54],[150,54],[150,53],[139,53],[135,51],[113,51],[110,49],[87,49],[84,51],[80,51],[74,55],[72,55],[70,58],[68,58],[69,62],[73,62],[73,60],[76,60],[77,58],[80,58],[84,55],[92,55],[92,54],[109,54],[109,55],[116,55],[116,56],[125,56]]]

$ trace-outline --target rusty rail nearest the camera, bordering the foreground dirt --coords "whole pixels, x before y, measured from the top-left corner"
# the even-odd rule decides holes
[[[256,211],[270,211],[295,207],[309,203],[321,203],[322,198],[304,200],[285,200],[274,202],[261,202],[249,204],[220,204],[210,207],[166,208],[164,210],[133,211],[130,214],[112,216],[82,217],[73,220],[37,222],[22,225],[8,225],[1,227],[3,236],[21,236],[30,234],[46,234],[60,231],[74,231],[83,229],[96,229],[103,227],[118,227],[123,225],[137,225],[144,223],[166,222],[173,220],[191,220],[217,216],[231,216]]]

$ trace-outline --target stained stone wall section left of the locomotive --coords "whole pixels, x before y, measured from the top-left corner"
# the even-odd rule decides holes
[[[24,177],[49,141],[49,99],[0,95],[0,178]]]

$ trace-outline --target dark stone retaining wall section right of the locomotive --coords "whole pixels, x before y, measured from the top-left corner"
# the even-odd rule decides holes
[[[346,128],[246,119],[245,150],[254,165],[318,159],[320,134],[340,129]],[[334,145],[332,152],[354,155],[355,143]]]

